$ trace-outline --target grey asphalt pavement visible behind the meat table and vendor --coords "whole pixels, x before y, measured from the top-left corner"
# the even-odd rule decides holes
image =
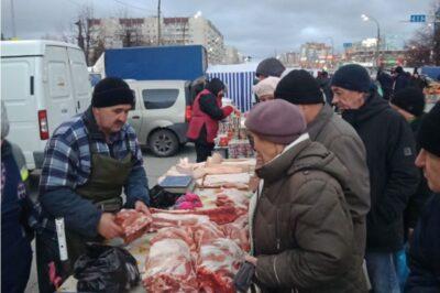
[[[169,158],[156,158],[150,151],[144,150],[144,167],[146,176],[148,178],[150,188],[157,183],[157,178],[162,176],[170,166],[175,165],[179,159],[188,158],[190,162],[196,162],[196,150],[193,143],[188,143],[174,156]],[[32,195],[36,195],[36,189],[32,191]],[[34,248],[34,243],[32,243]],[[34,250],[35,251],[35,250]],[[32,261],[31,276],[28,282],[25,293],[37,293],[38,285],[36,280],[36,265],[35,265],[35,253]]]

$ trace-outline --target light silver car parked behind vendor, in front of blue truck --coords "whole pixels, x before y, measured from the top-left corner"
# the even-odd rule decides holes
[[[170,156],[187,142],[194,95],[188,80],[125,80],[136,97],[129,123],[141,145]]]

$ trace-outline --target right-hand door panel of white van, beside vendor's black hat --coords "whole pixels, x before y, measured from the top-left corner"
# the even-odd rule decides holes
[[[67,47],[76,112],[84,112],[91,102],[91,86],[84,52]]]

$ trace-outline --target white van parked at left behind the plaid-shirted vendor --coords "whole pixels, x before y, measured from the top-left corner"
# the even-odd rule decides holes
[[[30,170],[40,169],[53,131],[90,105],[90,83],[84,52],[54,41],[1,43],[1,99],[10,132]]]

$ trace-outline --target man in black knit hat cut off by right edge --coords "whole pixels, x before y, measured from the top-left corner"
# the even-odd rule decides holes
[[[414,231],[406,293],[440,292],[440,104],[422,119],[417,166],[435,195],[427,202]]]

